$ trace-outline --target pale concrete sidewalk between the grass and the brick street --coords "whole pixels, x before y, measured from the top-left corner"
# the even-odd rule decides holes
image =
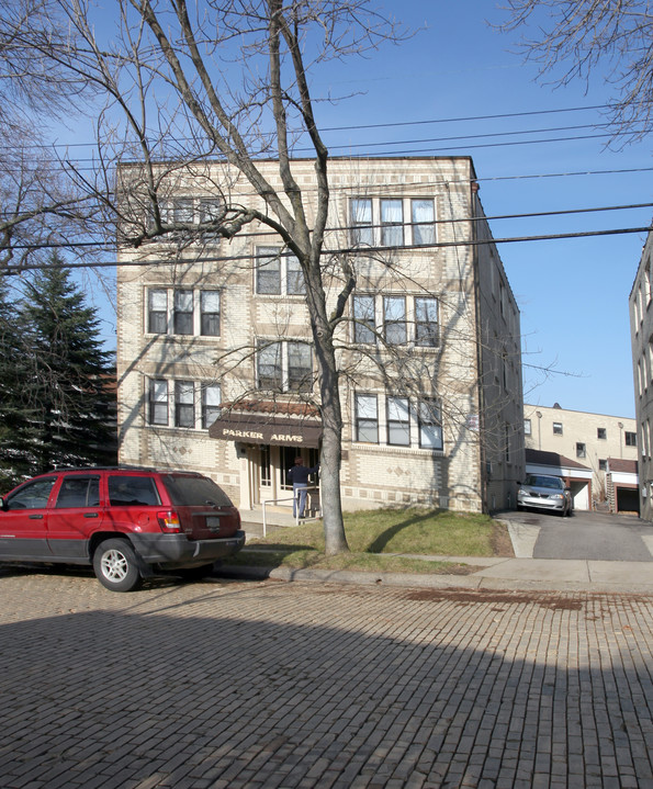
[[[515,559],[488,556],[419,556],[476,567],[466,575],[362,573],[286,567],[219,567],[225,577],[317,581],[322,583],[414,586],[466,589],[532,589],[558,591],[620,591],[653,594],[653,562],[532,559],[537,529],[506,523]],[[244,523],[248,534],[260,536],[260,523]]]

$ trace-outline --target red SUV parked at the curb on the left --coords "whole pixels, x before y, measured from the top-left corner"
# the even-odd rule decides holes
[[[159,570],[200,577],[244,544],[238,510],[201,474],[59,470],[0,498],[0,562],[89,564],[114,591]]]

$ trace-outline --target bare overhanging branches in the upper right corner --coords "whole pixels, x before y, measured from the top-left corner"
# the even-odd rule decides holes
[[[653,13],[649,0],[508,0],[503,31],[520,30],[521,50],[559,86],[596,71],[615,88],[615,137],[652,128]],[[532,32],[531,32],[532,31]]]

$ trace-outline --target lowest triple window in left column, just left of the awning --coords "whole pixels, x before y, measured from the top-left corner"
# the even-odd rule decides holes
[[[207,430],[219,416],[221,387],[215,382],[149,379],[147,390],[148,425]]]

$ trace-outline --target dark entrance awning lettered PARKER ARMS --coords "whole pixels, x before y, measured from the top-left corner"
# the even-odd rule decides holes
[[[241,443],[266,443],[284,447],[318,447],[322,424],[317,419],[292,418],[277,404],[273,413],[235,413],[226,410],[209,428],[211,438]],[[285,409],[284,409],[285,410]]]

